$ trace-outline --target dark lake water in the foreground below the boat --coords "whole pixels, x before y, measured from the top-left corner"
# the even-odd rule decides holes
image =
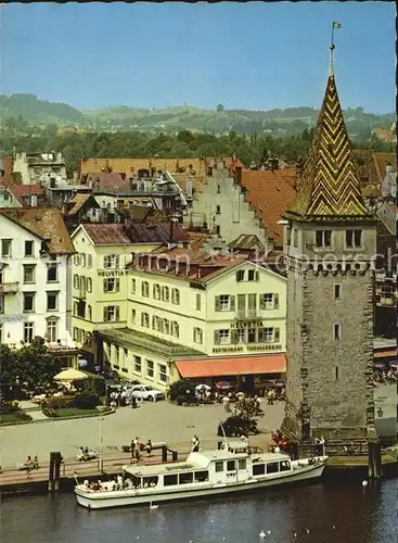
[[[397,480],[328,481],[155,510],[89,512],[73,494],[9,497],[0,526],[2,543],[395,543]],[[261,540],[261,530],[271,533]]]

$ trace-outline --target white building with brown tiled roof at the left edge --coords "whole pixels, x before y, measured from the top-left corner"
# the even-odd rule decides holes
[[[0,342],[18,349],[39,336],[52,350],[74,348],[74,249],[60,212],[1,210],[0,232]]]

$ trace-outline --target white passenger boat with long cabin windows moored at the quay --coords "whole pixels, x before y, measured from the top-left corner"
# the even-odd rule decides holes
[[[191,453],[185,462],[124,466],[123,484],[99,481],[97,490],[78,483],[78,504],[90,509],[158,504],[188,498],[251,492],[321,477],[328,456],[292,460],[283,453],[252,453],[244,441],[220,450]]]

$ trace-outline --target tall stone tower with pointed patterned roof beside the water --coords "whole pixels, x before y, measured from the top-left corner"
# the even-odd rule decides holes
[[[331,47],[332,55],[334,46]],[[284,432],[367,437],[373,406],[376,220],[361,194],[331,59],[297,195],[284,216],[287,384]]]

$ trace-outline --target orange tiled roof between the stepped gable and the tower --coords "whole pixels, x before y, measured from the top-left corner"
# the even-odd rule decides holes
[[[246,199],[256,210],[267,235],[273,238],[277,247],[282,247],[283,243],[283,228],[278,222],[296,195],[293,187],[295,176],[294,168],[242,172],[242,187],[246,189]]]

